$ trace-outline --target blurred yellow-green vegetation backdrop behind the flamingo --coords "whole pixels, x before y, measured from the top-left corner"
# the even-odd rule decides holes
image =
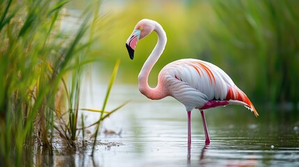
[[[130,60],[125,41],[140,19],[154,19],[167,46],[149,79],[155,86],[164,65],[198,58],[219,66],[254,104],[298,110],[299,1],[102,1],[105,22],[94,54],[105,65],[121,58],[118,81],[137,83],[137,74],[157,35],[139,41]],[[259,107],[258,107],[259,110]]]

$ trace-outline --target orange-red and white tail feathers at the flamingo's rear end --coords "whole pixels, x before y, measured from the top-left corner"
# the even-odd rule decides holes
[[[231,86],[229,88],[225,100],[228,100],[229,104],[243,105],[247,109],[250,109],[254,113],[254,116],[259,116],[259,113],[257,113],[254,105],[252,104],[252,102],[250,102],[247,95],[245,95],[245,93],[243,93],[243,91],[240,90],[237,86]]]

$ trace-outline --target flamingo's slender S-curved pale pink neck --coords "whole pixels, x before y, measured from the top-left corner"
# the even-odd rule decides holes
[[[152,99],[152,100],[159,100],[163,97],[167,96],[166,91],[164,91],[164,88],[161,85],[160,79],[158,78],[158,84],[155,88],[151,88],[148,86],[148,76],[155,65],[155,63],[160,58],[162,52],[164,51],[164,47],[167,42],[166,33],[163,30],[162,26],[158,24],[158,22],[155,22],[155,29],[153,30],[158,34],[158,42],[155,45],[155,48],[151,52],[150,56],[148,56],[146,62],[144,63],[144,66],[141,68],[141,71],[138,75],[138,81],[139,81],[139,90],[142,94],[144,94],[146,97]]]

